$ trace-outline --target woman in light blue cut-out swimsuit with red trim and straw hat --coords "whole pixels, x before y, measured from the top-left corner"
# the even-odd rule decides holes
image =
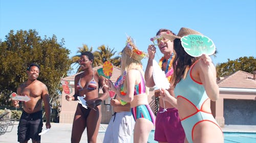
[[[216,101],[219,97],[216,69],[208,55],[193,57],[185,52],[180,38],[191,34],[202,35],[184,27],[177,36],[164,35],[174,41],[176,58],[171,83],[175,88],[181,124],[188,142],[224,142],[223,132],[210,109],[210,100]],[[170,101],[172,96],[166,90],[162,93]]]

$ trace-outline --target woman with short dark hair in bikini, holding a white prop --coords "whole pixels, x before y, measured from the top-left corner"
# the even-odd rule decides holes
[[[109,95],[108,89],[103,86],[103,95],[99,97],[99,89],[104,83],[104,78],[93,70],[93,53],[81,53],[79,64],[83,72],[75,76],[75,95],[66,96],[66,100],[78,100],[84,97],[87,105],[78,104],[74,116],[71,142],[79,142],[84,129],[87,128],[88,142],[97,142],[97,135],[101,122],[101,101]],[[88,107],[87,107],[88,106]]]

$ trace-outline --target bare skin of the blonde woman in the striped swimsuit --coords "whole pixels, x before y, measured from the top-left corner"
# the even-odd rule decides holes
[[[122,53],[121,58],[121,69],[122,67],[126,67],[128,65],[132,65],[133,63],[129,63],[127,58],[130,59],[130,55],[126,53]],[[127,60],[127,61],[126,61]],[[134,87],[135,84],[139,84],[141,82],[141,73],[143,74],[143,70],[140,68],[135,69],[135,67],[131,69],[127,69],[126,73],[126,95],[123,96],[120,92],[120,89],[117,89],[111,80],[108,80],[108,86],[112,91],[115,91],[117,96],[123,101],[130,102],[131,107],[136,107],[139,105],[148,105],[147,94],[141,93],[134,96]],[[123,68],[124,69],[124,68]],[[154,124],[145,118],[138,118],[135,121],[134,126],[134,142],[147,142],[148,135],[150,131],[153,129]]]

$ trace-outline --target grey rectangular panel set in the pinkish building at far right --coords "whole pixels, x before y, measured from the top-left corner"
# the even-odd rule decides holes
[[[256,125],[256,100],[224,99],[225,125]]]

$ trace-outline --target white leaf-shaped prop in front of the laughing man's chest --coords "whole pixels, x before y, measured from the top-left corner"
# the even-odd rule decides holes
[[[157,89],[169,89],[170,83],[156,60],[153,60],[153,79]]]

